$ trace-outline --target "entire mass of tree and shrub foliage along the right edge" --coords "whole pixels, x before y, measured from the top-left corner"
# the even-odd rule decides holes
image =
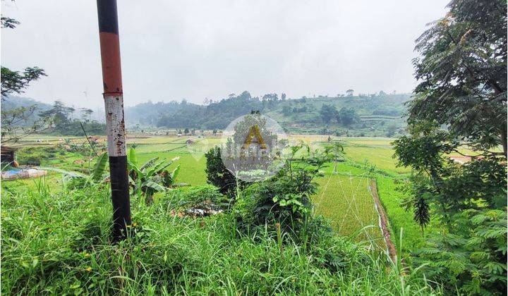
[[[457,294],[502,295],[507,289],[507,3],[453,0],[448,7],[417,40],[420,83],[409,101],[409,135],[394,141],[395,156],[399,165],[414,170],[405,187],[406,208],[413,209],[422,229],[429,214],[444,228],[416,252],[417,263],[428,264],[422,271]],[[457,164],[452,152],[470,161]]]

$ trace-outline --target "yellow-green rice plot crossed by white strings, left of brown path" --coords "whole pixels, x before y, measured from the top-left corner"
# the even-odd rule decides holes
[[[327,175],[317,180],[320,190],[313,198],[317,215],[329,218],[340,235],[356,236],[373,249],[386,249],[379,216],[369,191],[369,178]]]

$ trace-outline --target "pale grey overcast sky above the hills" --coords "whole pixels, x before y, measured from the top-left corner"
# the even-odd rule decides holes
[[[447,2],[119,0],[125,104],[201,104],[244,90],[411,92],[414,40]],[[1,8],[21,22],[1,30],[1,65],[48,75],[25,97],[102,106],[95,1],[6,0]]]

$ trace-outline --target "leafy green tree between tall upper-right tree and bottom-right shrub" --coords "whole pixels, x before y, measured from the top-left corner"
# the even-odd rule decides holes
[[[413,126],[410,135],[394,141],[399,165],[411,166],[415,172],[411,189],[406,190],[408,209],[425,196],[440,221],[448,223],[459,211],[505,205],[506,200],[499,199],[506,188],[502,162],[489,157],[473,158],[466,166],[457,164],[449,154],[460,153],[460,146],[437,125]]]

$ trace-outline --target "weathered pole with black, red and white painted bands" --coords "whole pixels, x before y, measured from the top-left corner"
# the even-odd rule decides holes
[[[125,238],[131,225],[125,121],[121,82],[120,39],[116,0],[97,0],[99,38],[106,109],[107,146],[113,202],[114,240]]]

